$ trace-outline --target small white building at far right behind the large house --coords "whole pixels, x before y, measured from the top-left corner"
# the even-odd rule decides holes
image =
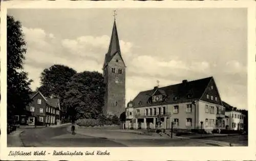
[[[245,126],[247,125],[246,115],[243,113],[242,110],[238,110],[236,107],[231,106],[230,104],[222,101],[226,112],[226,121],[227,127],[226,129],[229,130],[244,130]]]

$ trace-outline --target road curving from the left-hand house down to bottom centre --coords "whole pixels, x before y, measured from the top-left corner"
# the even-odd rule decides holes
[[[57,128],[25,129],[20,139],[25,147],[123,147],[114,141],[71,135],[67,126]]]

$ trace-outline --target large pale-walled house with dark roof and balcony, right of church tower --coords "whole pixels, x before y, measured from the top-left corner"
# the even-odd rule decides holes
[[[225,128],[223,106],[214,77],[140,92],[127,103],[125,128]]]

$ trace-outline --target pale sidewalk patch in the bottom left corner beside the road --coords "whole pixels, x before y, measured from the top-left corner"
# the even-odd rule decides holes
[[[20,134],[23,129],[16,129],[7,135],[7,147],[24,147],[22,140],[20,139]]]

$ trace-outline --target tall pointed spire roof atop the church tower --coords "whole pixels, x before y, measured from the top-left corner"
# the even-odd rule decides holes
[[[112,35],[110,39],[110,46],[108,52],[105,54],[105,60],[104,60],[104,66],[108,65],[108,63],[113,59],[113,57],[118,54],[122,59],[120,45],[119,45],[119,38],[117,34],[117,28],[116,28],[116,21],[114,21],[113,29],[112,29]],[[124,61],[123,61],[124,63]],[[124,64],[125,66],[125,64]]]

